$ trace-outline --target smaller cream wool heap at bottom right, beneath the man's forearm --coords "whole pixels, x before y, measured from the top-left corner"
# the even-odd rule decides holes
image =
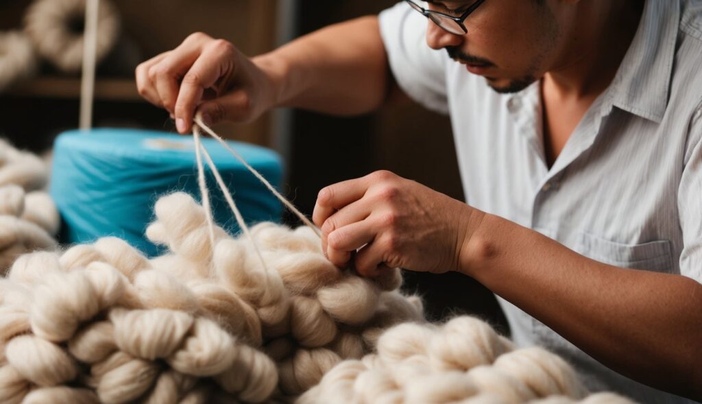
[[[612,393],[588,396],[574,370],[538,347],[515,349],[477,318],[444,325],[404,323],[377,351],[344,361],[298,400],[312,403],[630,404]]]

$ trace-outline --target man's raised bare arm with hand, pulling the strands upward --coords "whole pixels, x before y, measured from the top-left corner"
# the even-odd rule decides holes
[[[180,133],[190,131],[196,109],[209,123],[249,122],[277,106],[362,114],[394,88],[375,16],[326,27],[253,59],[230,42],[192,34],[135,74],[139,93],[171,112]]]

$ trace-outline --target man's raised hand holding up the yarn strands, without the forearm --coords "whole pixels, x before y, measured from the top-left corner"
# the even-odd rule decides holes
[[[232,43],[201,33],[136,69],[140,95],[168,110],[180,133],[192,128],[195,109],[210,124],[258,118],[276,102],[272,76]]]

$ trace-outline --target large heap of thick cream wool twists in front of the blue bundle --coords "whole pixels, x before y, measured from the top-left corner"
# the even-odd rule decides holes
[[[311,229],[216,228],[186,194],[156,204],[147,260],[118,238],[22,255],[0,281],[0,402],[289,400],[384,328],[423,318],[392,271],[329,263]],[[263,261],[260,260],[263,258]]]

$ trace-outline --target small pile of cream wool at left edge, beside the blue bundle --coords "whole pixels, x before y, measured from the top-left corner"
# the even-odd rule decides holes
[[[0,140],[0,274],[15,259],[33,250],[55,248],[60,219],[42,189],[48,170],[44,161]]]

